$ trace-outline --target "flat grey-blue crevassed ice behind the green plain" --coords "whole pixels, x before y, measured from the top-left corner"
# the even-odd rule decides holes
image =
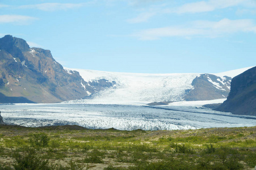
[[[36,127],[79,125],[90,129],[177,130],[255,126],[255,116],[238,116],[181,103],[158,107],[109,104],[0,105],[3,121]]]

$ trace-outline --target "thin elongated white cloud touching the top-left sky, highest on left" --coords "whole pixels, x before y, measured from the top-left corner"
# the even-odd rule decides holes
[[[79,8],[82,6],[89,5],[92,2],[87,3],[40,3],[36,5],[23,5],[18,8],[26,9],[37,9],[41,11],[58,11],[58,10],[69,10],[72,8]]]

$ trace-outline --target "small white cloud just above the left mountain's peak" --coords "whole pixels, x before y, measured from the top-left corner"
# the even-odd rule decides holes
[[[37,18],[24,15],[0,15],[0,23],[28,24]]]

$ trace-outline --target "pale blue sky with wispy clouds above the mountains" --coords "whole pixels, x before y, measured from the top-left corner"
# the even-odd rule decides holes
[[[256,65],[255,0],[0,0],[0,37],[63,66],[219,73]]]

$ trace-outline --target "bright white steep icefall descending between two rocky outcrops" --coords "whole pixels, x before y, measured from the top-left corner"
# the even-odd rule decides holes
[[[107,71],[70,69],[78,71],[86,82],[99,79],[115,81],[116,86],[107,88],[90,99],[69,103],[91,104],[147,104],[154,101],[182,101],[185,91],[191,89],[192,80],[199,74],[139,74]]]

